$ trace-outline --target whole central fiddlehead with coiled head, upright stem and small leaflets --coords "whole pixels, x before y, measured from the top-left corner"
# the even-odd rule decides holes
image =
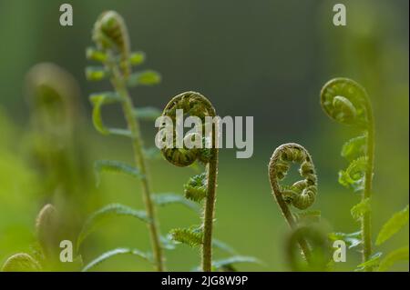
[[[184,114],[200,117],[200,120],[205,124],[205,117],[215,117],[215,108],[211,105],[210,101],[203,95],[195,92],[185,92],[180,95],[174,96],[166,105],[162,115],[170,117],[173,121],[176,121],[177,110],[182,109]],[[174,122],[175,123],[175,122]],[[161,149],[162,155],[172,165],[188,166],[195,161],[200,161],[207,165],[207,173],[196,175],[190,178],[190,181],[185,185],[185,196],[196,202],[200,202],[205,199],[203,224],[201,225],[200,233],[198,231],[190,231],[195,237],[200,236],[202,246],[202,270],[204,272],[210,272],[211,270],[211,257],[212,257],[212,225],[214,217],[214,207],[216,199],[216,186],[217,186],[217,174],[218,174],[218,148],[216,145],[216,130],[217,124],[212,123],[212,133],[210,136],[205,136],[201,141],[205,145],[207,140],[211,140],[211,148],[176,148],[175,137],[171,146],[165,146]],[[163,126],[159,127],[159,130],[163,129]],[[195,135],[195,134],[194,134]],[[185,138],[200,137],[194,135],[186,135]],[[209,138],[209,139],[207,139]],[[174,233],[176,236],[186,233],[185,229]]]

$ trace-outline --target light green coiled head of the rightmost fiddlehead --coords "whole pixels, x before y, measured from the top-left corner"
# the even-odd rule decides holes
[[[333,78],[321,91],[326,115],[346,125],[368,125],[369,97],[362,85],[344,77]]]

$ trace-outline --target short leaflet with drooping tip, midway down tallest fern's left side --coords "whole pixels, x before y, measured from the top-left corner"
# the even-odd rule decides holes
[[[144,178],[144,175],[139,172],[138,168],[133,166],[115,160],[98,160],[94,164],[97,186],[100,184],[100,175],[102,172],[124,174],[139,179]]]

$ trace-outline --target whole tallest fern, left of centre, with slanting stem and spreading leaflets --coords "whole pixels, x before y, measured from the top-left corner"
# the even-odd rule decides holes
[[[152,119],[159,115],[159,111],[153,108],[135,108],[128,93],[129,86],[155,85],[159,83],[158,73],[147,70],[138,73],[131,72],[132,65],[140,65],[144,61],[144,54],[141,52],[130,53],[128,29],[121,15],[117,12],[108,11],[100,15],[93,30],[93,41],[96,48],[87,49],[87,58],[101,63],[101,67],[87,67],[86,75],[91,81],[99,81],[109,78],[113,85],[114,92],[99,93],[90,96],[94,105],[93,122],[97,131],[103,135],[122,135],[131,139],[134,152],[135,167],[125,165],[118,161],[99,161],[96,164],[96,171],[117,172],[133,177],[137,177],[142,183],[142,197],[145,211],[137,211],[125,205],[108,205],[95,215],[83,228],[78,237],[77,247],[81,244],[89,232],[89,228],[106,215],[131,215],[147,223],[152,248],[152,259],[150,255],[141,255],[138,250],[114,251],[97,259],[100,262],[111,255],[135,254],[152,260],[156,270],[163,271],[164,255],[160,242],[159,222],[154,206],[152,190],[149,180],[149,170],[147,167],[148,150],[144,148],[143,140],[139,129],[139,119]],[[128,129],[108,128],[101,118],[101,107],[103,105],[118,103],[122,106],[122,111],[127,121]],[[94,265],[93,263],[91,263]],[[96,263],[95,263],[96,264]],[[89,267],[87,267],[89,268]]]

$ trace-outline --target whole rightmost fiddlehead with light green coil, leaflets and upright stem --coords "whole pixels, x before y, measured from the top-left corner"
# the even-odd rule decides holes
[[[321,91],[323,111],[331,119],[344,125],[353,125],[364,131],[343,145],[342,155],[351,161],[339,174],[342,185],[362,192],[362,203],[370,202],[374,172],[374,115],[370,98],[364,87],[354,80],[338,77],[323,85]],[[354,159],[356,158],[356,159]],[[361,215],[363,262],[372,255],[370,210]],[[371,268],[367,268],[371,270]]]

